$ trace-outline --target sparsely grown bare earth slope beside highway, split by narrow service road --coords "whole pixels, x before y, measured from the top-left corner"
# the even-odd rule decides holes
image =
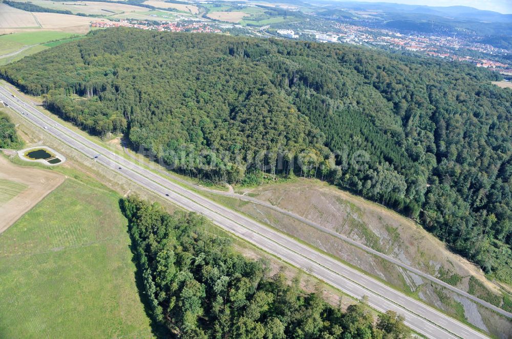
[[[449,251],[420,225],[348,192],[317,180],[297,180],[238,191],[395,257],[459,289],[483,288],[487,296],[501,295],[503,286],[487,280],[478,267]],[[512,331],[512,323],[494,312],[343,240],[251,202],[218,199],[497,337],[507,338],[507,333]],[[482,296],[482,293],[477,293],[477,297]]]

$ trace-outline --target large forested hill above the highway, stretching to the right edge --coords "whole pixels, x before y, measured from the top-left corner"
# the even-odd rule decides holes
[[[512,282],[512,91],[486,70],[338,44],[114,29],[0,74],[78,126],[124,132],[191,175],[236,182],[269,150],[272,174],[325,178],[418,218]],[[222,166],[183,162],[206,147]],[[306,150],[310,170],[287,156],[276,169],[279,149]],[[370,163],[335,167],[343,156],[329,149],[366,150]]]

